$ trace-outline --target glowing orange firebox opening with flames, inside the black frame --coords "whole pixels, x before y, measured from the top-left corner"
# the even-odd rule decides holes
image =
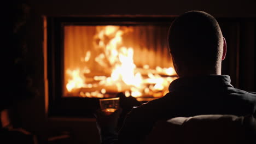
[[[167,49],[168,26],[63,27],[63,97],[160,98],[177,79]]]

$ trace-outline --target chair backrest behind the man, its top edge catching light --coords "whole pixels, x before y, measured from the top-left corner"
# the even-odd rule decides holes
[[[256,143],[253,115],[200,115],[159,121],[143,143]]]

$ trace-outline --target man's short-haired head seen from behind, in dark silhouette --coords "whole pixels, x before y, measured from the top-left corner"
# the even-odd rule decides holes
[[[188,11],[172,22],[168,44],[179,76],[220,74],[226,43],[216,19]]]

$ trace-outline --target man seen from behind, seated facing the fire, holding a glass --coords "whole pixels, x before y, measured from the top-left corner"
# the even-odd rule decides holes
[[[226,41],[216,19],[202,11],[189,11],[173,21],[168,44],[179,79],[165,97],[149,101],[126,115],[118,135],[101,123],[102,143],[139,143],[155,122],[173,117],[207,114],[245,116],[256,110],[256,94],[234,88],[228,75],[221,75]],[[120,111],[108,117],[116,122]],[[104,121],[107,121],[105,117]],[[106,127],[108,126],[108,127]],[[112,131],[113,132],[113,131]]]

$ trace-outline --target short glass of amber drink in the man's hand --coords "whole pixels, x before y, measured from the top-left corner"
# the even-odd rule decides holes
[[[101,111],[110,115],[119,108],[119,98],[100,99]]]

